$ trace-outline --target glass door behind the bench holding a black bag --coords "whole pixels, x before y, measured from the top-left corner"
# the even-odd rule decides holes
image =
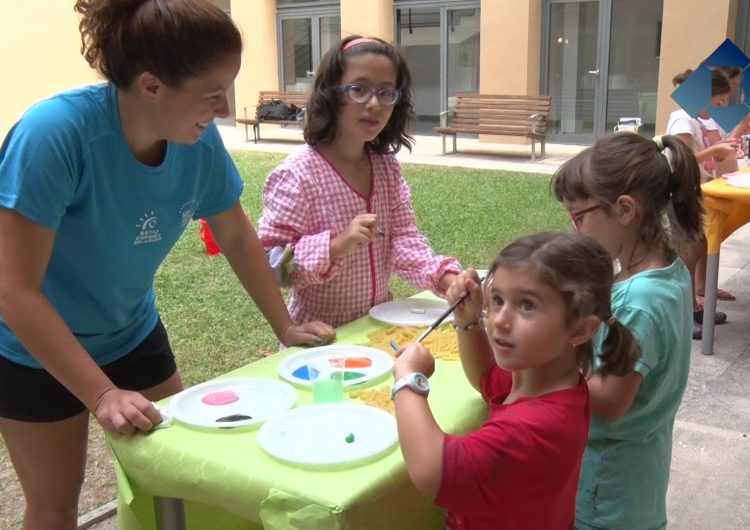
[[[339,15],[279,17],[281,88],[309,91],[320,59],[341,38]]]

